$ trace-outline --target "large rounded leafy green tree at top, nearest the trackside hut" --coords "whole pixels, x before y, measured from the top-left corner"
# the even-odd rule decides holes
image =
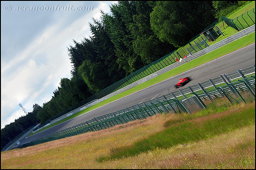
[[[151,13],[151,27],[163,42],[181,47],[217,19],[207,3],[159,1]]]

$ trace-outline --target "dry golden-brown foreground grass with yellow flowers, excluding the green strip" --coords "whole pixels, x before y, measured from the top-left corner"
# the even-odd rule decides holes
[[[223,113],[255,110],[254,105],[255,102],[230,105]],[[194,113],[191,120],[200,123],[204,114]],[[214,120],[221,112],[210,115]],[[1,152],[1,168],[255,168],[255,124],[167,149],[155,148],[137,156],[97,161],[116,148],[163,131],[167,122],[177,122],[184,116],[157,114],[110,129]]]

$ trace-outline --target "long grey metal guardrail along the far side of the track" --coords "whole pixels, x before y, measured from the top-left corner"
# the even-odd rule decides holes
[[[242,31],[240,31],[240,32],[230,36],[230,37],[227,37],[227,38],[223,39],[222,41],[219,41],[219,42],[217,42],[217,43],[215,43],[215,44],[213,44],[211,46],[208,46],[208,47],[204,48],[203,50],[201,50],[201,51],[199,51],[199,52],[197,52],[197,53],[195,53],[195,54],[193,54],[193,55],[191,55],[191,56],[189,56],[189,57],[187,57],[185,59],[182,59],[181,62],[176,62],[174,64],[171,64],[171,65],[167,66],[167,67],[164,67],[161,70],[156,71],[153,74],[148,75],[147,77],[144,77],[144,78],[142,78],[142,79],[140,79],[140,80],[138,80],[138,81],[136,81],[136,82],[134,82],[134,83],[132,83],[130,85],[127,85],[127,86],[125,86],[125,87],[115,91],[115,92],[112,92],[112,93],[110,93],[108,95],[105,95],[104,97],[102,97],[102,98],[100,98],[100,99],[98,99],[98,100],[96,100],[96,101],[94,101],[94,102],[92,102],[90,104],[83,105],[83,106],[80,107],[79,110],[75,109],[75,110],[67,113],[65,116],[57,118],[55,121],[52,121],[51,123],[49,123],[49,124],[39,128],[39,129],[37,129],[36,131],[38,131],[40,129],[43,129],[43,128],[49,126],[49,125],[52,125],[55,122],[58,122],[59,120],[68,117],[68,115],[69,116],[73,115],[73,114],[75,114],[75,113],[77,113],[79,111],[82,111],[82,110],[84,110],[84,109],[86,109],[88,107],[91,107],[91,106],[93,106],[93,105],[95,105],[97,103],[100,103],[100,102],[102,102],[102,101],[104,101],[106,99],[109,99],[112,96],[115,96],[115,95],[117,95],[117,94],[119,94],[119,93],[121,93],[123,91],[129,90],[129,89],[131,89],[131,88],[133,88],[133,87],[135,87],[135,86],[137,86],[137,85],[139,85],[141,83],[144,83],[144,82],[146,82],[146,81],[148,81],[150,79],[153,79],[153,78],[155,78],[155,77],[157,77],[157,76],[159,76],[161,74],[164,74],[165,72],[167,72],[169,70],[172,70],[172,69],[174,69],[174,68],[176,68],[178,66],[181,66],[182,64],[185,64],[185,63],[187,63],[189,61],[192,61],[192,60],[194,60],[196,58],[199,58],[199,57],[201,57],[201,56],[203,56],[203,55],[205,55],[207,53],[210,53],[210,52],[218,49],[219,47],[221,47],[223,45],[226,45],[226,44],[228,44],[230,42],[233,42],[233,41],[235,41],[235,40],[237,40],[239,38],[242,38],[242,37],[244,37],[244,36],[246,36],[246,35],[248,35],[248,34],[250,34],[252,32],[255,32],[255,25],[253,25],[253,26],[251,26],[251,27],[249,27],[247,29],[244,29],[244,30],[242,30]]]

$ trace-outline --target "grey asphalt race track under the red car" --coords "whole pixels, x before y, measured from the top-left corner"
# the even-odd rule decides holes
[[[202,64],[198,67],[183,72],[177,76],[166,79],[150,87],[144,88],[133,94],[127,95],[119,100],[112,103],[101,106],[97,109],[84,113],[80,116],[67,120],[59,125],[36,133],[32,136],[20,140],[20,144],[27,143],[36,140],[40,137],[52,134],[62,129],[72,127],[74,125],[91,120],[94,117],[108,114],[117,110],[124,109],[143,101],[154,99],[163,94],[167,94],[172,91],[176,91],[175,84],[180,78],[190,77],[192,80],[184,85],[182,88],[195,85],[207,81],[212,78],[219,77],[222,74],[228,74],[230,72],[237,71],[255,64],[255,43],[241,48],[235,52],[227,54],[218,59],[212,60],[208,63]],[[182,89],[180,88],[180,89]]]

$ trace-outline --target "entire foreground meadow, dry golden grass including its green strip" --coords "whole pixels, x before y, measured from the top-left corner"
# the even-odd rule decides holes
[[[253,98],[253,97],[252,97]],[[253,98],[254,99],[254,98]],[[1,168],[255,168],[255,101],[206,103],[1,153]]]

